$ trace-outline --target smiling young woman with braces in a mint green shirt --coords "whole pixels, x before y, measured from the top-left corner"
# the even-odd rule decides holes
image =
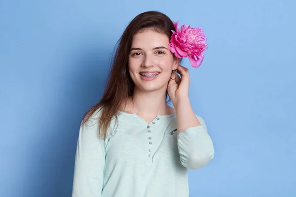
[[[122,34],[103,98],[81,123],[73,197],[188,197],[187,168],[214,157],[190,106],[188,69],[169,50],[172,30],[149,11]]]

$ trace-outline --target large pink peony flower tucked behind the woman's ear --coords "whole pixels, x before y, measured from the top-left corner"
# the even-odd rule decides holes
[[[206,34],[202,32],[202,28],[190,28],[190,26],[182,25],[178,29],[179,21],[174,22],[176,32],[172,30],[171,43],[169,49],[177,58],[188,57],[191,66],[199,67],[204,59],[203,51],[207,50],[208,45]]]

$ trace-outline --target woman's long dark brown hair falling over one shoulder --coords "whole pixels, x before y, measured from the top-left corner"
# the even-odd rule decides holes
[[[126,100],[134,93],[134,82],[128,70],[128,58],[134,35],[144,30],[151,29],[158,33],[164,33],[169,38],[175,27],[171,19],[158,11],[148,11],[136,16],[126,27],[118,40],[112,56],[111,71],[109,72],[104,95],[100,102],[91,107],[82,119],[82,125],[96,112],[100,112],[99,136],[106,139],[111,119],[115,117],[119,110],[126,107]],[[170,98],[167,94],[167,102]]]

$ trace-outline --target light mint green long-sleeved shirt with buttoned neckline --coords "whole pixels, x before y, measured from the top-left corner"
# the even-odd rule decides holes
[[[107,139],[98,137],[99,113],[80,127],[72,197],[188,197],[187,168],[214,157],[204,120],[178,134],[176,114],[147,124],[120,112]]]

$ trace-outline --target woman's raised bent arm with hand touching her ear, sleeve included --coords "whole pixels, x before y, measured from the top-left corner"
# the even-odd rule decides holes
[[[177,67],[179,75],[172,74],[168,93],[177,115],[178,148],[181,163],[189,169],[198,169],[214,157],[214,146],[204,120],[196,116],[188,98],[189,72]]]

